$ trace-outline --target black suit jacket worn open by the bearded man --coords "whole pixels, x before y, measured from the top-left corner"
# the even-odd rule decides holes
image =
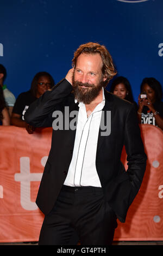
[[[72,86],[63,79],[52,91],[29,106],[24,119],[35,127],[52,126],[54,110],[60,110],[65,120],[65,106],[70,112],[78,110],[74,102]],[[104,190],[105,199],[121,222],[126,219],[128,207],[134,200],[146,169],[139,124],[134,105],[105,91],[103,114],[111,111],[111,133],[102,136],[99,128],[96,169]],[[67,118],[67,117],[66,117]],[[71,122],[71,118],[69,118]],[[52,145],[42,175],[36,204],[40,210],[49,213],[57,200],[72,159],[76,130],[53,130]],[[128,170],[121,163],[123,145],[126,147]]]

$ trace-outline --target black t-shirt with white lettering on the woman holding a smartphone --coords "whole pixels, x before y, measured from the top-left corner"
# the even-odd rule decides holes
[[[154,109],[159,112],[160,116],[163,117],[163,102],[154,103],[153,106]],[[155,116],[147,106],[143,106],[141,113],[141,123],[148,123],[153,124],[153,126],[157,126]]]

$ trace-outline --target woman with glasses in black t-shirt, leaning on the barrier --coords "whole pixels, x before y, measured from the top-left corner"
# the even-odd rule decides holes
[[[18,127],[26,127],[28,133],[34,132],[34,127],[29,126],[24,121],[24,114],[29,105],[37,98],[40,98],[47,90],[51,90],[54,86],[54,80],[52,76],[47,72],[37,73],[30,86],[30,90],[22,92],[16,99],[14,108],[11,115],[11,124]]]

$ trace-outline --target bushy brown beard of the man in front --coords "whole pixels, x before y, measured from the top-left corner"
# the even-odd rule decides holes
[[[103,80],[101,79],[98,85],[88,84],[79,81],[74,81],[74,75],[72,78],[74,97],[78,102],[84,104],[90,104],[98,96],[101,88],[103,87]],[[85,87],[82,87],[85,86]]]

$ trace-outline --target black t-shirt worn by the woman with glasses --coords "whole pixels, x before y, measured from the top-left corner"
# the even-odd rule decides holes
[[[36,99],[37,98],[34,97],[30,91],[22,92],[16,99],[12,113],[21,115],[22,120],[24,121],[24,114],[26,110]]]

